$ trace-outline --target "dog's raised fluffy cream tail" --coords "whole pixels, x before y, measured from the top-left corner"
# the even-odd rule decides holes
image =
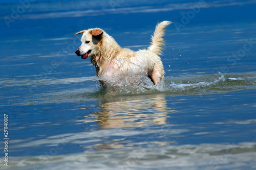
[[[147,50],[156,53],[157,55],[162,55],[162,49],[164,46],[164,31],[165,28],[170,25],[170,21],[162,21],[161,23],[158,23],[156,26],[156,30],[154,32],[154,35],[151,36],[151,45],[147,48]]]

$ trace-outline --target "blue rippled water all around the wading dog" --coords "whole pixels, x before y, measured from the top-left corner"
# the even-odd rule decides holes
[[[255,7],[36,1],[22,11],[19,1],[2,1],[0,125],[8,114],[9,159],[0,168],[255,169]],[[122,72],[125,80],[110,82],[115,92],[104,89],[90,60],[74,53],[73,34],[95,27],[123,47],[146,48],[162,20],[175,24],[157,87]]]

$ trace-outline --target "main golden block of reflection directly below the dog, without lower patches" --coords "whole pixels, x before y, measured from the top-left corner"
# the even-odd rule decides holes
[[[163,94],[113,97],[98,107],[96,121],[102,129],[166,124],[168,109]]]

